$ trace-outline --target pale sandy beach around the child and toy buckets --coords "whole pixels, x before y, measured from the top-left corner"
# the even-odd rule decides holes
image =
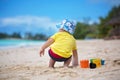
[[[77,40],[79,61],[105,60],[105,65],[95,69],[63,68],[62,62],[50,69],[48,49],[40,57],[39,48],[0,49],[0,80],[120,80],[120,40]]]

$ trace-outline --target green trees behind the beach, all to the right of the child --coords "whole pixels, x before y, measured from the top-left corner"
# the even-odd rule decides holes
[[[109,32],[112,30],[112,26],[106,24],[112,18],[117,17],[120,17],[120,5],[114,6],[106,17],[99,17],[100,23],[88,24],[89,19],[84,23],[77,22],[73,36],[76,39],[105,38],[109,36]]]

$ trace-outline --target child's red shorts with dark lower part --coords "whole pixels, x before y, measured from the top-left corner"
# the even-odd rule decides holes
[[[54,53],[51,49],[49,50],[49,56],[55,60],[55,61],[67,61],[68,59],[70,59],[72,56],[70,56],[69,58],[64,58],[64,57],[61,57],[59,55],[57,55],[56,53]]]

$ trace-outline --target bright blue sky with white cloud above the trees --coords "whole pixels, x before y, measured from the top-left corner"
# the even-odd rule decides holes
[[[0,0],[0,32],[54,34],[64,19],[99,22],[120,0]]]

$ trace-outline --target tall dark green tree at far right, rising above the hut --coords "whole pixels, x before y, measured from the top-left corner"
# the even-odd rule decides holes
[[[100,24],[98,26],[99,30],[99,38],[104,38],[109,34],[109,31],[112,29],[110,25],[106,26],[106,23],[111,20],[112,18],[119,17],[120,16],[120,5],[114,6],[108,13],[108,15],[103,18],[100,17]]]

